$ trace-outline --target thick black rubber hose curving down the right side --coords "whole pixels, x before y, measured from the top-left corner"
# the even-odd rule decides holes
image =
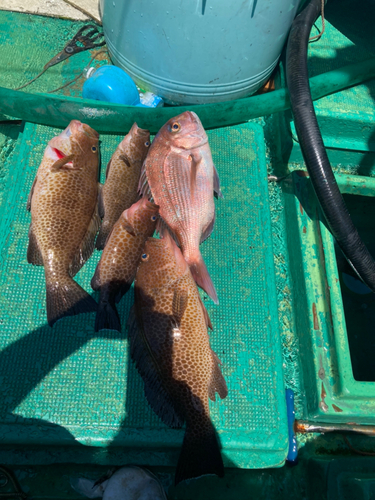
[[[286,55],[291,108],[306,167],[330,231],[359,278],[375,292],[375,262],[361,240],[337,186],[311,99],[307,49],[321,4],[321,0],[310,0],[291,27]]]

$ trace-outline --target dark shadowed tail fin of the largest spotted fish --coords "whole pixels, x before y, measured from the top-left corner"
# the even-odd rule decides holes
[[[207,418],[207,417],[205,417]],[[175,474],[175,485],[186,479],[216,474],[224,476],[224,464],[215,429],[209,419],[202,424],[206,430],[194,432],[186,427],[180,457]]]

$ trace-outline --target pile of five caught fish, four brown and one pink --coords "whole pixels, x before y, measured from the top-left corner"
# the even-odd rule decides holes
[[[48,144],[28,200],[29,263],[44,266],[50,326],[96,312],[95,331],[121,331],[116,304],[134,281],[127,328],[145,396],[172,428],[186,424],[175,482],[224,475],[209,399],[227,396],[197,285],[218,303],[200,252],[222,197],[207,134],[191,112],[170,119],[150,145],[135,123],[98,183],[99,136],[73,120]],[[74,280],[96,248],[99,305]],[[160,238],[153,237],[155,231]]]

